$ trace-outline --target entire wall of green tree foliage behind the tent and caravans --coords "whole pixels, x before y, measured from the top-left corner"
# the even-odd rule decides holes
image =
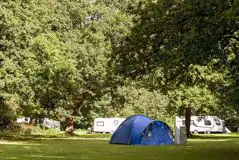
[[[1,115],[63,123],[75,117],[84,128],[95,117],[136,113],[173,124],[182,107],[237,115],[237,6],[229,0],[3,1]]]

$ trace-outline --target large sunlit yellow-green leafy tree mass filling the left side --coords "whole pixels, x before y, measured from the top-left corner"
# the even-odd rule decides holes
[[[113,84],[108,62],[132,25],[128,4],[30,0],[0,8],[1,95],[16,101],[18,115],[78,116],[89,125],[94,101]]]

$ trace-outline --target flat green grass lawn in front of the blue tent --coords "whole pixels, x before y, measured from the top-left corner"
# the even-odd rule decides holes
[[[196,136],[187,145],[170,146],[110,145],[107,138],[0,140],[0,159],[237,160],[239,135]]]

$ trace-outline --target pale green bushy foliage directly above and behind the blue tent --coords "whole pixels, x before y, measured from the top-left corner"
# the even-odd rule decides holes
[[[119,114],[130,116],[144,114],[159,119],[167,115],[168,98],[159,91],[148,91],[145,88],[124,86],[118,89],[119,96],[124,97],[124,108]]]

